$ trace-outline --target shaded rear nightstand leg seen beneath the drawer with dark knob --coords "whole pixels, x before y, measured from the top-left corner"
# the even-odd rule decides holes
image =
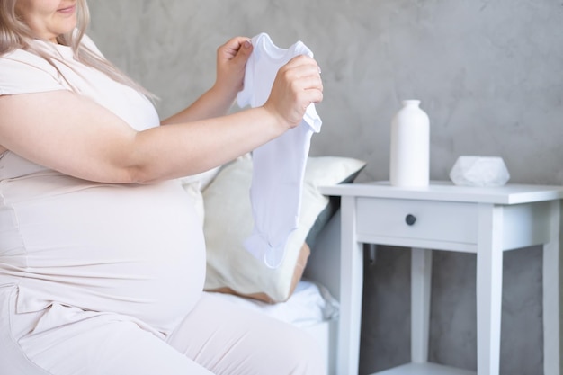
[[[428,362],[432,250],[413,248],[411,262],[411,360]]]

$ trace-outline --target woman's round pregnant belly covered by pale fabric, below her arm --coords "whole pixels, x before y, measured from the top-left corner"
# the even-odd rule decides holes
[[[199,299],[205,276],[191,198],[175,182],[72,181],[33,199],[7,200],[3,208],[4,216],[13,215],[12,237],[21,238],[6,240],[6,231],[0,239],[4,274],[20,278],[20,309],[57,301],[168,331]]]

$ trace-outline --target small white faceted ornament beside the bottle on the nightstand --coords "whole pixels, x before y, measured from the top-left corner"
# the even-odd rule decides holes
[[[502,186],[510,179],[505,161],[498,156],[460,156],[450,178],[461,186]]]

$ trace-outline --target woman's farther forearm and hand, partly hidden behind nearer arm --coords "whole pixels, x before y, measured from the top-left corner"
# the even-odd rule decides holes
[[[244,37],[228,40],[217,50],[217,77],[205,94],[182,112],[161,123],[189,122],[227,114],[243,88],[246,60],[252,53],[252,43]]]

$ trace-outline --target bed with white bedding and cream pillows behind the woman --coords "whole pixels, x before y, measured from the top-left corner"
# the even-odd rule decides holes
[[[364,166],[353,158],[308,158],[299,228],[291,234],[283,262],[276,269],[265,267],[243,246],[253,227],[250,156],[182,179],[203,223],[206,292],[260,310],[315,336],[329,374],[335,373],[340,215],[338,198],[322,195],[317,187],[350,183]]]

